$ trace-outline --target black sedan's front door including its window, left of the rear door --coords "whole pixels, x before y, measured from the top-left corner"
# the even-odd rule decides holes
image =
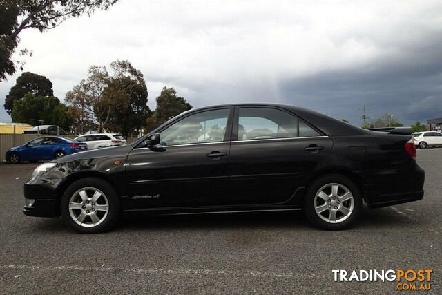
[[[135,147],[126,167],[133,207],[223,204],[231,113],[229,107],[191,113],[158,131],[160,144]]]

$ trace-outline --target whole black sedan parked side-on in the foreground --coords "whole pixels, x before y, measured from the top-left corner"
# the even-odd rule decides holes
[[[122,212],[302,209],[322,229],[354,224],[365,202],[423,198],[411,135],[365,131],[304,108],[234,104],[187,111],[132,144],[41,164],[25,184],[28,216],[62,216],[81,233]]]

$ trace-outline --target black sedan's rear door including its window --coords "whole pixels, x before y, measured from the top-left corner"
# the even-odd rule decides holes
[[[329,137],[282,108],[236,107],[229,202],[286,202],[332,146]]]

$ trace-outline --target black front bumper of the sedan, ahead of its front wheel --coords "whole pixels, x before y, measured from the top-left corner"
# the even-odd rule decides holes
[[[32,178],[24,185],[26,199],[35,200],[32,206],[25,205],[27,216],[57,217],[60,215],[59,200],[55,196],[58,179],[48,179],[44,175]]]

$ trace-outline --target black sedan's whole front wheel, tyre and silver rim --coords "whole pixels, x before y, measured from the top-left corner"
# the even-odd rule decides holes
[[[94,201],[96,192],[99,194]],[[82,178],[66,189],[60,211],[66,225],[75,231],[81,234],[102,233],[111,229],[119,219],[119,196],[112,184],[105,180]]]

